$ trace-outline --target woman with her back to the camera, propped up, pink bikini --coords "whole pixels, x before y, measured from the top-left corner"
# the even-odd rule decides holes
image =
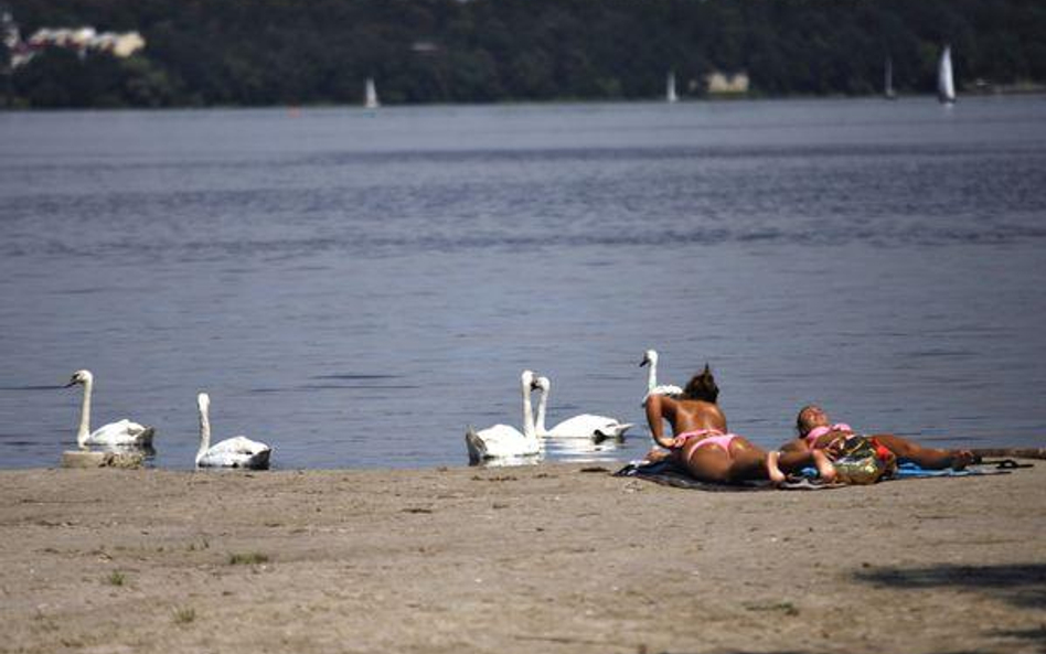
[[[668,452],[651,452],[648,460],[669,457],[691,476],[704,482],[784,481],[779,469],[771,474],[762,449],[726,430],[726,416],[716,404],[718,396],[719,388],[707,365],[690,380],[679,399],[650,396],[647,400],[650,432]],[[673,438],[664,435],[662,420],[672,425]],[[831,468],[822,452],[814,452],[810,459],[821,461],[828,467],[825,470]]]

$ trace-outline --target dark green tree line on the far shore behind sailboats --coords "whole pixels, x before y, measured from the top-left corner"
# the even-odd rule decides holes
[[[6,71],[17,107],[682,97],[712,72],[760,96],[1046,82],[1040,0],[8,0],[39,28],[139,31],[128,58],[49,49]],[[0,45],[2,61],[7,52]]]

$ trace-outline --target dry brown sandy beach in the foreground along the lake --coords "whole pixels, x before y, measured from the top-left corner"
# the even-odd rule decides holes
[[[579,465],[0,472],[2,652],[1043,652],[1046,463],[708,493]]]

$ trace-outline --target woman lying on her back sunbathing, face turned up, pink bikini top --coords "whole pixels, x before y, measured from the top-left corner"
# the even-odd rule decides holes
[[[805,406],[799,411],[796,428],[799,430],[799,438],[786,443],[780,453],[772,452],[771,465],[779,464],[784,469],[794,469],[810,464],[812,454],[818,451],[826,452],[830,458],[834,458],[845,439],[854,433],[850,425],[844,422],[832,425],[828,414],[816,405]],[[924,448],[893,433],[875,433],[867,438],[876,446],[888,450],[898,461],[910,461],[927,470],[946,468],[962,470],[974,461],[974,455],[969,450]]]

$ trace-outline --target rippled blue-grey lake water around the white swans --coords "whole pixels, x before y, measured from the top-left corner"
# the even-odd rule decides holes
[[[467,462],[467,425],[637,422],[705,362],[773,446],[1046,444],[1046,98],[0,114],[0,467],[94,424],[277,468]]]

